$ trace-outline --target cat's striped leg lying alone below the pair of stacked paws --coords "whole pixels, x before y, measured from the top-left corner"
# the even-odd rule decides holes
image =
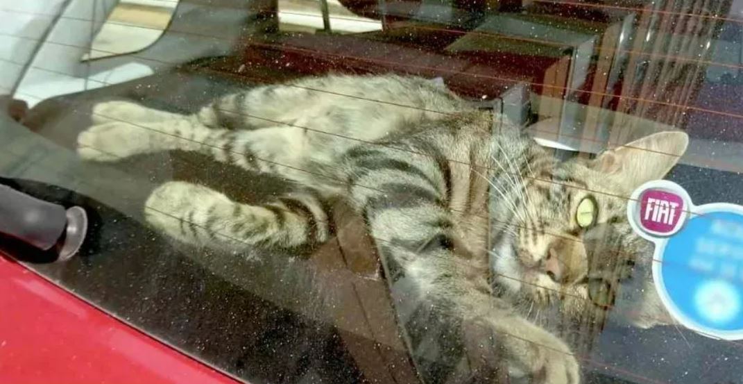
[[[203,185],[167,182],[150,194],[144,210],[158,231],[212,249],[287,249],[323,243],[330,235],[327,211],[311,191],[249,205]]]

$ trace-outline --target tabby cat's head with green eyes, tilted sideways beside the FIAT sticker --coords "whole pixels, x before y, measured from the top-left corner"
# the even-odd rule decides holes
[[[635,188],[666,176],[688,141],[684,132],[655,133],[596,159],[563,162],[534,150],[522,177],[512,178],[524,188],[499,196],[513,204],[491,211],[498,286],[532,315],[551,308],[544,314],[554,316],[557,308],[562,316],[601,317],[616,303],[620,283],[632,278],[643,293],[630,322],[663,324],[654,289],[645,289],[652,287],[652,245],[632,231],[626,206]]]

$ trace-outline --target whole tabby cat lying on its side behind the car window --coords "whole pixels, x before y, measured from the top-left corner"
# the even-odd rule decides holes
[[[492,127],[493,112],[435,81],[328,75],[220,97],[192,115],[98,103],[77,152],[115,161],[194,151],[296,185],[264,205],[187,182],[160,185],[146,220],[197,246],[317,245],[331,236],[328,206],[345,199],[366,220],[392,287],[412,291],[447,327],[484,327],[488,348],[501,353],[464,348],[533,383],[579,383],[571,348],[528,317],[533,307],[574,318],[606,312],[647,250],[627,223],[624,196],[665,176],[687,135],[655,133],[596,159],[559,162],[507,121],[497,135]],[[423,342],[412,328],[426,325],[406,316],[415,356]]]

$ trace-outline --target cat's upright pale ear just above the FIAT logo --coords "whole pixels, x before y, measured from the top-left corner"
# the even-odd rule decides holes
[[[658,132],[604,151],[591,161],[590,167],[632,185],[642,185],[663,179],[688,145],[689,136],[684,132]]]

